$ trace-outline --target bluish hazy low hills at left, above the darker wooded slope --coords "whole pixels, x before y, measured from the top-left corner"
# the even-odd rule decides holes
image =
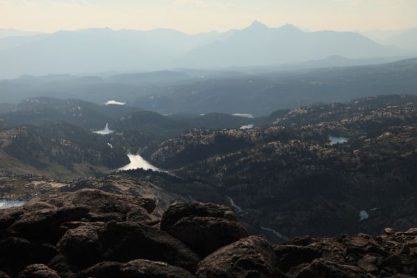
[[[42,126],[50,122],[67,122],[89,131],[103,129],[106,124],[113,131],[140,131],[156,136],[178,136],[189,129],[226,129],[263,121],[245,115],[208,113],[206,115],[161,115],[126,105],[97,105],[79,99],[34,97],[17,105],[0,106],[0,129],[22,124]],[[122,145],[122,144],[118,144]]]

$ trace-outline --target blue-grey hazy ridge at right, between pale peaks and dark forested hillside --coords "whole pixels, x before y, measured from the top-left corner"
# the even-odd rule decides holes
[[[417,58],[381,65],[270,72],[174,84],[162,93],[138,97],[131,105],[159,113],[266,115],[276,109],[315,102],[392,93],[416,94],[416,76]]]

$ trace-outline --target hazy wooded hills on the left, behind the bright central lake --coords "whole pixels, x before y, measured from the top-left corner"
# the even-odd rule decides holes
[[[0,113],[0,168],[63,177],[111,172],[140,152],[190,129],[239,128],[248,117],[161,115],[122,105],[36,97]],[[114,133],[96,132],[108,126]],[[26,168],[26,169],[25,169]]]

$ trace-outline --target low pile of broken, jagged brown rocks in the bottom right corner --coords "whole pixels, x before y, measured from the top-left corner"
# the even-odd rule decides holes
[[[277,267],[289,277],[417,277],[417,229],[382,236],[293,238],[275,245]]]

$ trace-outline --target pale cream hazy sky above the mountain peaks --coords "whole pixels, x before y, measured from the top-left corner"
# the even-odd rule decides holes
[[[257,19],[313,31],[417,27],[417,0],[0,0],[0,28],[243,28]]]

